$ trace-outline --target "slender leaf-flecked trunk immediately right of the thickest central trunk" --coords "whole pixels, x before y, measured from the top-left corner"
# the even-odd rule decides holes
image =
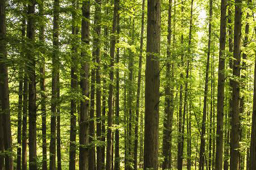
[[[167,85],[164,88],[165,96],[164,96],[164,120],[163,120],[163,164],[162,169],[167,169],[170,160],[168,160],[168,155],[170,152],[170,121],[171,117],[171,87],[170,87],[170,80],[171,80],[171,12],[172,12],[172,0],[169,0],[168,5],[168,35],[167,35],[167,58],[166,58],[166,81]]]

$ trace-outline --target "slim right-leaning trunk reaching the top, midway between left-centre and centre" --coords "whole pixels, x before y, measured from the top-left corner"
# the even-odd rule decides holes
[[[114,54],[115,54],[115,29],[117,28],[117,12],[118,12],[119,0],[114,1],[114,14],[112,25],[112,37],[110,44],[110,71],[109,71],[109,97],[108,97],[108,134],[107,134],[107,148],[106,148],[106,170],[111,169],[112,165],[112,114],[113,114],[113,81],[114,81]]]

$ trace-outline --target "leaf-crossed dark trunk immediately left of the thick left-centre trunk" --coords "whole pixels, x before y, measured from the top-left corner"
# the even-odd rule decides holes
[[[78,34],[78,26],[76,24],[77,18],[77,6],[78,2],[76,0],[72,1],[72,35],[76,36]],[[71,88],[73,92],[77,91],[78,82],[77,82],[77,46],[72,44],[72,63],[71,63]],[[71,112],[70,112],[70,135],[69,135],[69,170],[76,169],[76,107],[77,102],[75,99],[71,99]]]

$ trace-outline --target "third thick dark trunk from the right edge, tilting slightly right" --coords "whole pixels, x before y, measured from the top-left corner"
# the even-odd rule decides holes
[[[220,52],[218,61],[218,94],[217,94],[217,131],[215,168],[222,169],[223,153],[223,116],[224,116],[224,82],[225,82],[225,50],[226,42],[226,0],[221,0],[220,19]]]

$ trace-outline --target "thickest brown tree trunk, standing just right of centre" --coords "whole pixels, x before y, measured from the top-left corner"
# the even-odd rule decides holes
[[[147,2],[144,170],[158,169],[160,1]]]

